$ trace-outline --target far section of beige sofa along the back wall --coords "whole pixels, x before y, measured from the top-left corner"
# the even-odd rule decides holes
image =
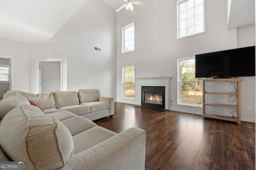
[[[8,96],[4,94],[3,99]],[[14,90],[29,101],[44,107],[45,114],[67,110],[91,121],[114,115],[114,98],[100,95],[98,89],[80,89],[78,91],[55,91],[39,94]]]

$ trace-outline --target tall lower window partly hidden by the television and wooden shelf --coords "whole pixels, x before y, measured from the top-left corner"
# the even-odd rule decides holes
[[[178,60],[178,104],[202,105],[203,78],[195,78],[195,57]]]

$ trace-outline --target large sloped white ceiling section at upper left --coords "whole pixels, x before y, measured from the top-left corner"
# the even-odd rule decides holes
[[[0,0],[0,37],[47,43],[88,0]]]

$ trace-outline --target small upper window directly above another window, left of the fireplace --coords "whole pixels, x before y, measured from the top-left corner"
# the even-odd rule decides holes
[[[134,23],[122,28],[122,53],[134,51]]]

